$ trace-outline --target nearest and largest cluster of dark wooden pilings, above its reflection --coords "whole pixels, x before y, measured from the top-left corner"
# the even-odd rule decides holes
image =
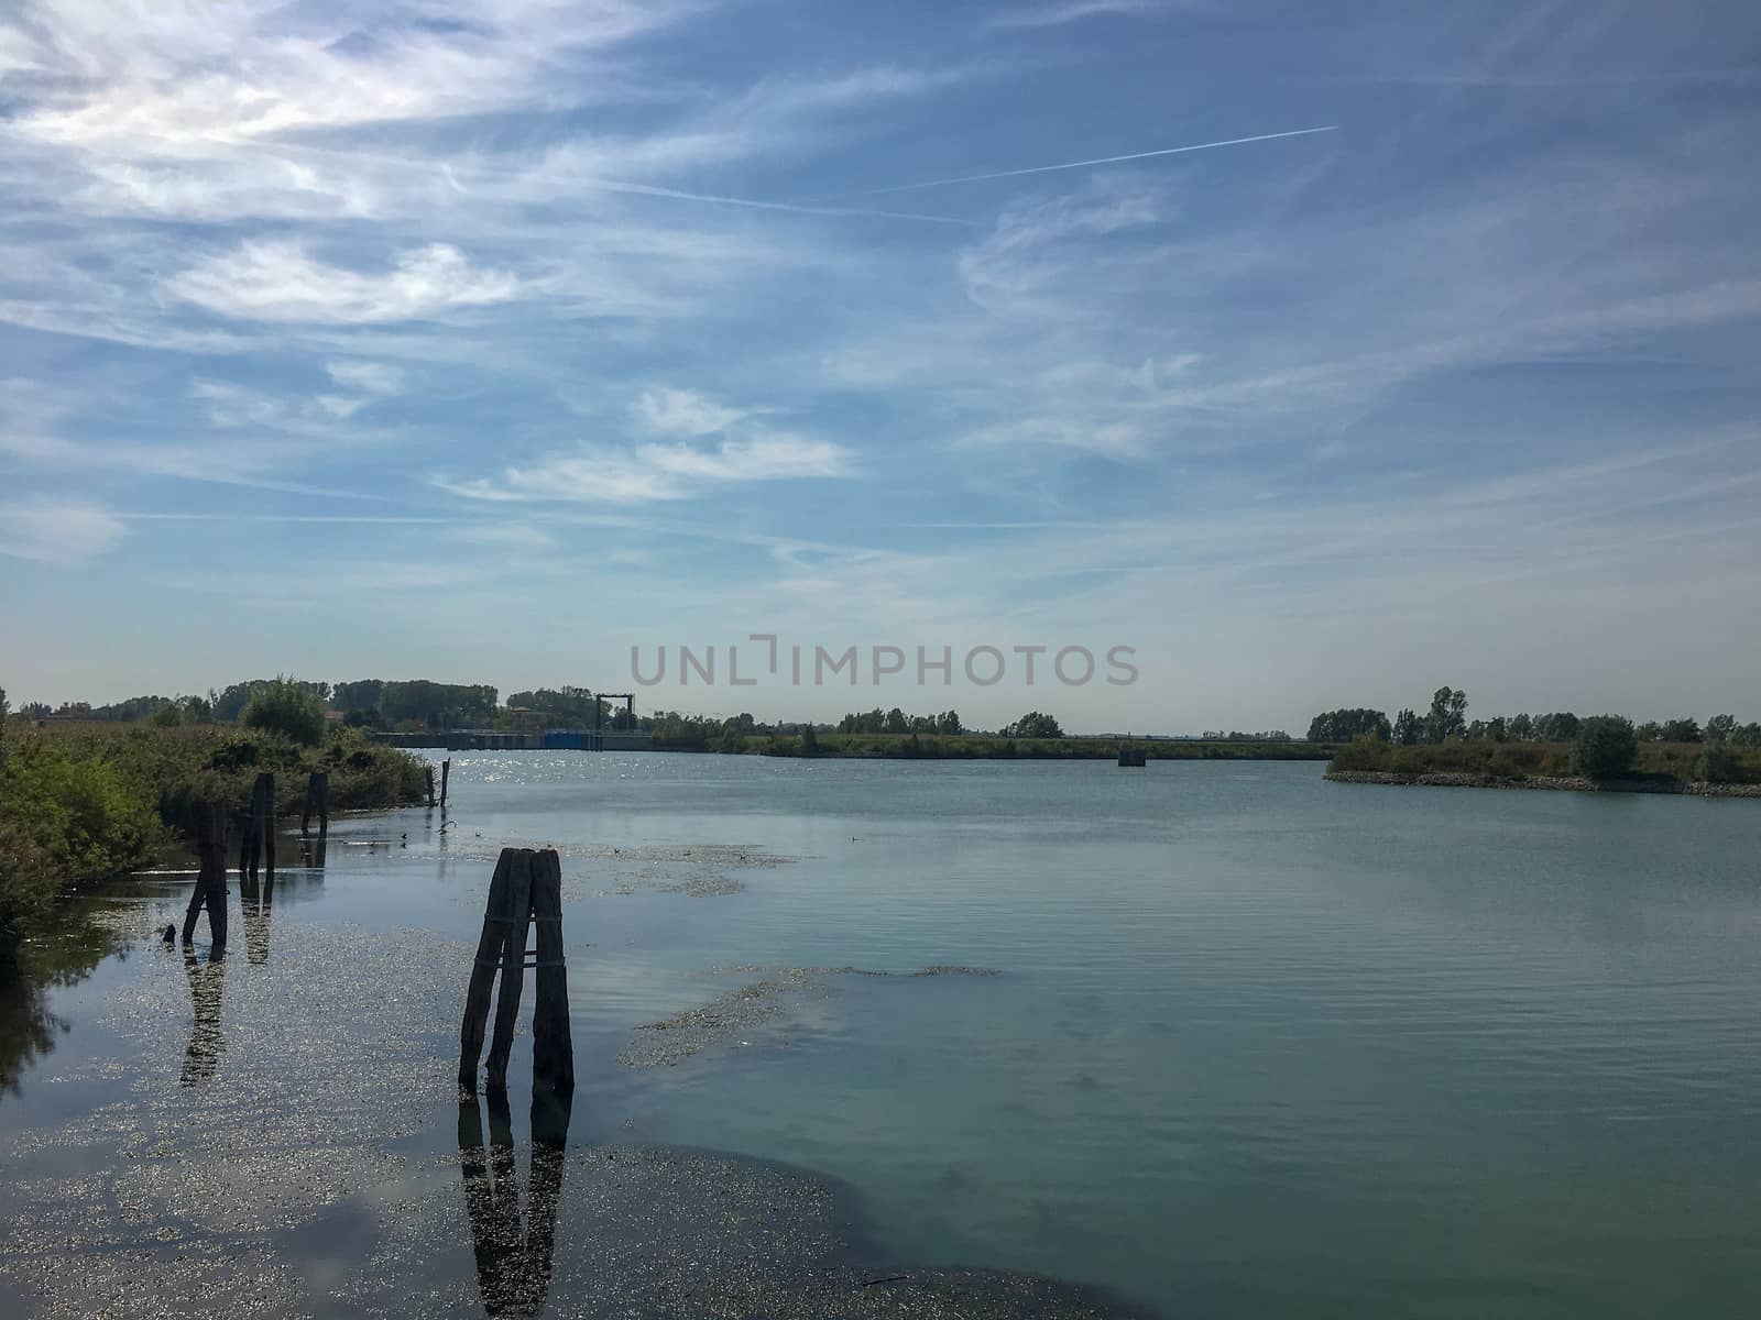
[[[537,928],[537,943],[527,949],[527,929]],[[532,959],[532,961],[528,961]],[[502,848],[490,880],[483,913],[483,936],[465,993],[465,1023],[460,1030],[458,1081],[477,1088],[477,1058],[490,1019],[490,993],[500,973],[495,1003],[495,1037],[484,1065],[484,1084],[507,1089],[507,1054],[514,1047],[519,996],[527,968],[537,972],[537,1001],[532,1008],[532,1082],[556,1095],[574,1093],[574,1040],[569,1035],[569,968],[562,956],[562,859],[555,848]]]

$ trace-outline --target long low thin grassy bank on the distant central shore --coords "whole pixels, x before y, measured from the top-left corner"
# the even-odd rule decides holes
[[[1326,760],[1337,750],[1314,743],[1187,743],[1116,737],[995,737],[990,734],[815,734],[750,736],[738,750],[764,757],[868,757],[896,760],[1118,760],[1120,743],[1150,760]]]

